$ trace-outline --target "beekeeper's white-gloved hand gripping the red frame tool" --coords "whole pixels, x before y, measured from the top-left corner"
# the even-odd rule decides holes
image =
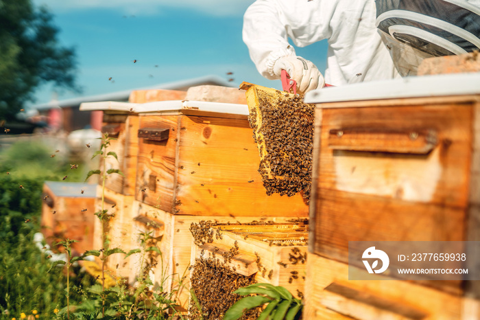
[[[283,56],[275,61],[273,71],[280,78],[282,70],[287,71],[290,78],[297,82],[297,92],[306,93],[310,90],[323,88],[324,76],[313,62],[299,56]]]

